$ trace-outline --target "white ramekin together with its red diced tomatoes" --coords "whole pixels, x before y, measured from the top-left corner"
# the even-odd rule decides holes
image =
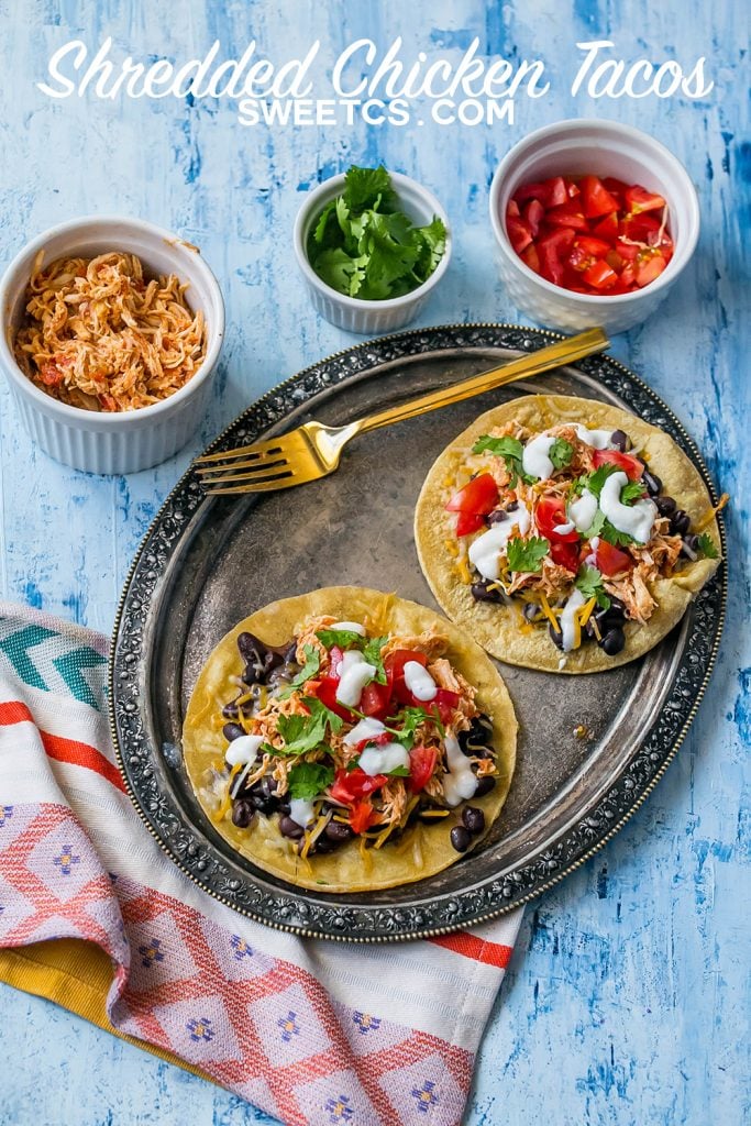
[[[493,177],[501,280],[528,316],[620,332],[645,320],[699,235],[696,190],[660,142],[616,122],[531,133]]]

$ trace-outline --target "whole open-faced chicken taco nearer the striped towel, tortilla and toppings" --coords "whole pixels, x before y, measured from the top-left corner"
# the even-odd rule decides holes
[[[432,610],[333,587],[272,602],[204,665],[182,732],[216,830],[266,872],[357,892],[422,879],[486,834],[517,721],[482,649]]]

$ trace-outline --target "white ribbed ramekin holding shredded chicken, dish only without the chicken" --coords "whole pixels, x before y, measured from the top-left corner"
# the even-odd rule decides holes
[[[69,406],[45,394],[18,367],[12,338],[24,319],[26,287],[36,256],[44,261],[113,250],[136,254],[149,274],[176,274],[188,282],[186,300],[206,318],[206,358],[173,395],[135,411],[116,413]],[[14,258],[0,282],[0,367],[33,440],[51,457],[90,473],[134,473],[180,449],[200,421],[224,339],[224,302],[199,251],[178,235],[142,220],[92,215],[45,231]]]

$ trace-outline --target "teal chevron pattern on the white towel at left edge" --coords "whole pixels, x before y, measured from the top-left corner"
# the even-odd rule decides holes
[[[34,650],[37,652],[30,652]],[[84,670],[101,669],[107,660],[90,645],[81,645],[74,638],[69,640],[64,634],[34,624],[2,637],[0,653],[7,656],[19,680],[32,688],[45,692],[62,690],[62,685],[50,683],[51,670],[54,669],[74,699],[88,704],[97,712],[101,711],[104,677],[97,677],[92,687]],[[46,670],[46,677],[42,669]],[[56,679],[54,673],[52,679]]]

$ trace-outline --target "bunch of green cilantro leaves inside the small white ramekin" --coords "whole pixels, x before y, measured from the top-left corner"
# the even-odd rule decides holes
[[[436,269],[446,251],[446,227],[426,226],[397,209],[386,169],[347,172],[345,189],[327,204],[307,239],[307,258],[327,285],[350,297],[381,301],[410,293]]]

